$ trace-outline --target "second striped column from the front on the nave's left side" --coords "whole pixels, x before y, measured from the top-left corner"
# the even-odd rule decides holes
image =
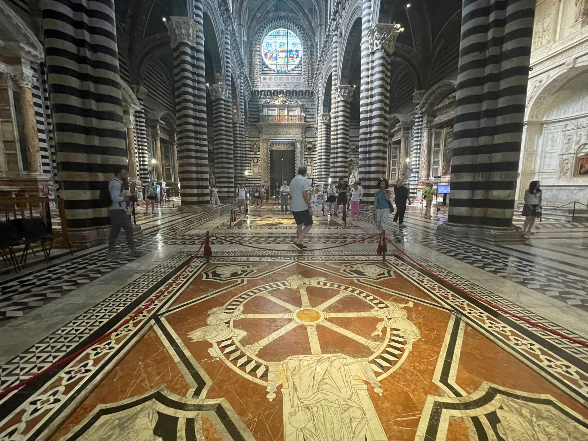
[[[172,16],[166,21],[173,50],[179,211],[210,207],[202,2],[194,2],[194,9],[195,20]]]

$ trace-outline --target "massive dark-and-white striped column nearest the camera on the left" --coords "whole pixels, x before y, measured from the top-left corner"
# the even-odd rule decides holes
[[[101,192],[126,166],[114,4],[41,0],[39,8],[59,195],[70,242],[91,245],[110,223]]]

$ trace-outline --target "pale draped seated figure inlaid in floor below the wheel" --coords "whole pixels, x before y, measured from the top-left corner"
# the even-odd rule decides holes
[[[345,358],[303,357],[283,364],[291,410],[288,422],[305,440],[364,441],[366,414],[353,392]]]

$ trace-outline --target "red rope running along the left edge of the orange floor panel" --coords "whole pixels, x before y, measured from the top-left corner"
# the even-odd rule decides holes
[[[192,265],[192,262],[194,262],[194,260],[196,259],[196,257],[198,257],[198,254],[200,253],[200,250],[202,249],[202,246],[204,246],[204,241],[201,242],[198,250],[196,250],[196,253],[192,256],[192,259],[190,259],[190,261],[186,264],[186,266],[184,266],[184,268],[178,273],[178,275],[176,275],[175,278],[173,278],[173,280],[168,283],[168,285],[165,287],[165,289],[163,289],[162,292],[160,292],[158,295],[156,295],[153,299],[149,300],[149,302],[145,306],[142,306],[141,308],[139,308],[139,310],[136,311],[132,316],[130,316],[129,318],[123,320],[123,322],[119,323],[119,325],[116,326],[116,328],[109,330],[103,336],[97,338],[96,340],[94,340],[91,343],[88,343],[88,345],[84,346],[83,348],[76,350],[76,352],[72,353],[71,355],[68,355],[65,358],[62,358],[60,360],[57,360],[52,365],[50,365],[50,366],[46,367],[45,369],[43,369],[43,370],[35,373],[35,375],[33,375],[31,377],[28,377],[27,379],[22,380],[19,383],[16,383],[16,385],[14,385],[14,386],[6,387],[6,389],[0,390],[0,401],[4,400],[6,396],[10,395],[15,390],[21,389],[22,387],[28,385],[29,383],[32,383],[35,380],[39,379],[39,377],[45,375],[47,372],[50,372],[51,370],[54,370],[54,369],[57,369],[57,368],[61,368],[62,366],[66,365],[67,363],[71,362],[72,360],[75,360],[82,353],[86,352],[86,350],[88,350],[88,349],[92,348],[92,346],[95,346],[98,343],[102,342],[103,340],[105,340],[106,338],[108,338],[109,336],[111,336],[113,333],[117,332],[119,329],[121,329],[124,326],[128,325],[129,323],[131,323],[139,315],[141,315],[145,310],[151,308],[151,306],[153,306],[153,304],[155,302],[157,302],[157,300],[161,299],[161,297],[166,292],[168,292],[169,288],[171,288],[173,286],[173,284],[176,283],[178,281],[178,279],[182,277],[183,273],[185,273],[186,270],[188,268],[190,268],[190,266]]]

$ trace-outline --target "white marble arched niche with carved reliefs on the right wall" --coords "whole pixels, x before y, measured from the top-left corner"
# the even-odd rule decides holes
[[[539,180],[543,205],[588,202],[588,62],[529,80],[517,196]]]

